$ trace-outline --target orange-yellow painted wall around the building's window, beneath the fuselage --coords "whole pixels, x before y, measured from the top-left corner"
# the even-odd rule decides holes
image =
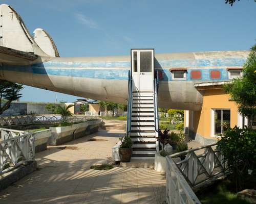
[[[194,112],[194,132],[205,138],[211,138],[211,109],[230,109],[230,126],[238,124],[238,107],[222,89],[204,90],[201,111]],[[190,121],[189,121],[190,123]]]

